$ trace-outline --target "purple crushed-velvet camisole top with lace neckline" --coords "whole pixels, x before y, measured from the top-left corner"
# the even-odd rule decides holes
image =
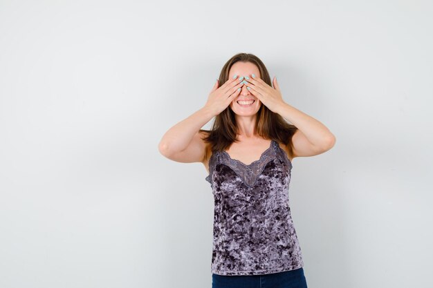
[[[249,165],[215,151],[209,160],[214,195],[212,273],[260,275],[304,266],[291,218],[292,164],[278,142]]]

